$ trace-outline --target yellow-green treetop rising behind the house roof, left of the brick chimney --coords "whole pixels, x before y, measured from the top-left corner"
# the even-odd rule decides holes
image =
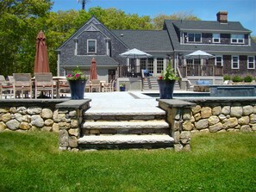
[[[165,20],[188,20],[188,21],[200,21],[200,19],[192,15],[191,12],[178,12],[172,15],[159,14],[153,18],[153,28],[162,29]]]

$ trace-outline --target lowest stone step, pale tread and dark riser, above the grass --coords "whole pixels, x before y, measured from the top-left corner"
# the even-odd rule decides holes
[[[129,149],[129,148],[167,148],[172,147],[174,139],[167,134],[153,135],[98,135],[78,139],[83,149]]]

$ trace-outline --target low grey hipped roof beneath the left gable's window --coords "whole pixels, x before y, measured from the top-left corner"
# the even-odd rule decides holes
[[[62,65],[65,66],[91,66],[91,59],[95,58],[97,66],[118,66],[116,60],[107,55],[76,55],[72,59],[67,60]]]

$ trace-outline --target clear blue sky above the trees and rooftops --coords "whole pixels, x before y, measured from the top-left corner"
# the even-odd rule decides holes
[[[52,0],[53,11],[81,9],[77,0]],[[91,0],[85,5],[91,7],[122,9],[126,14],[172,15],[177,12],[189,12],[203,21],[215,21],[216,13],[228,11],[228,21],[241,22],[256,36],[256,0]],[[85,21],[84,21],[85,22]]]

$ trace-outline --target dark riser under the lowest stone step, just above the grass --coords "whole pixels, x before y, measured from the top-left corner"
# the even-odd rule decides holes
[[[173,144],[79,144],[79,150],[106,150],[106,149],[159,149],[173,148]]]

